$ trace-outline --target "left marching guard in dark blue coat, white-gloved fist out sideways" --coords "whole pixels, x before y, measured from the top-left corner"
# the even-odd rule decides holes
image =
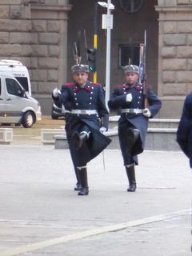
[[[89,66],[72,66],[74,82],[54,89],[54,100],[61,100],[66,109],[66,134],[70,154],[81,183],[78,195],[89,194],[86,164],[110,144],[100,126],[100,118],[108,114],[101,85],[88,80]]]

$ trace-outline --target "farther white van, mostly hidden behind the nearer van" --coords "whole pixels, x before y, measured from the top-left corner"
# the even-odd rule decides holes
[[[31,96],[30,74],[26,66],[22,65],[22,62],[11,59],[0,59],[1,70],[13,74],[22,88],[26,90],[26,94]]]

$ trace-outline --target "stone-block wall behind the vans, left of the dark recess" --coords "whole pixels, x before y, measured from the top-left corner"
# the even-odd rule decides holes
[[[67,66],[67,0],[1,0],[0,58],[17,59],[30,70],[32,94],[50,114],[51,92]]]

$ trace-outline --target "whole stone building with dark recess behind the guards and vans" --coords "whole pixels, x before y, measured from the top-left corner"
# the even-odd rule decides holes
[[[192,0],[111,0],[111,90],[123,82],[122,66],[138,63],[147,31],[147,81],[162,99],[160,118],[179,118],[192,82]],[[70,80],[72,44],[86,30],[93,47],[94,0],[1,0],[0,58],[21,60],[30,70],[32,90],[50,114],[50,93]],[[98,7],[98,82],[105,82],[106,30]],[[83,35],[83,32],[82,32]],[[86,50],[82,36],[82,62]]]

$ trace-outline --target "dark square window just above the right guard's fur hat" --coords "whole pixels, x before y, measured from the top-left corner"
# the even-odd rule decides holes
[[[139,45],[119,45],[118,46],[119,67],[133,64],[139,66]]]

